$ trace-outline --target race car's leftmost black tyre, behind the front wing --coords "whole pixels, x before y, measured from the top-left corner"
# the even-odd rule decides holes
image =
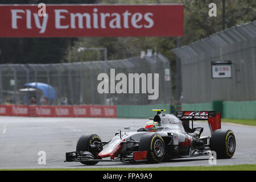
[[[98,135],[96,135],[96,134],[85,134],[85,135],[82,135],[79,138],[79,140],[77,141],[76,151],[88,151],[88,152],[91,152],[93,154],[93,156],[94,156],[94,159],[97,159],[97,153],[90,148],[90,144],[93,144],[96,141],[97,142],[101,142],[101,138],[98,137]],[[85,164],[85,165],[95,165],[98,162],[86,161],[86,162],[81,162],[81,163]]]

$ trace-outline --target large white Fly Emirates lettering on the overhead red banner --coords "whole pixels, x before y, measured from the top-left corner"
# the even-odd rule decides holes
[[[55,28],[56,29],[84,29],[84,28],[152,28],[154,26],[153,13],[130,13],[126,10],[124,13],[98,13],[98,9],[94,8],[93,13],[69,13],[66,9],[55,9]],[[41,14],[40,14],[41,15]],[[32,18],[34,22],[32,23]],[[11,10],[11,27],[18,29],[18,21],[25,21],[27,29],[32,29],[32,24],[43,34],[47,30],[48,14],[31,13],[31,10]],[[40,19],[43,19],[40,21]],[[68,20],[68,23],[67,23]],[[98,21],[99,20],[99,21]],[[65,22],[65,23],[64,23]],[[99,22],[99,23],[98,23]],[[108,22],[108,23],[106,23]],[[100,27],[99,27],[100,26]]]

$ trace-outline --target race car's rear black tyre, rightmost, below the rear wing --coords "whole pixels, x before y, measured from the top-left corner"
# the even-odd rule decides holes
[[[217,159],[232,158],[236,150],[236,138],[232,130],[218,129],[210,138],[210,150],[215,151]]]

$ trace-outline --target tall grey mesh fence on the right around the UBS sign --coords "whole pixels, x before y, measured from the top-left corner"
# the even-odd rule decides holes
[[[172,49],[181,59],[183,102],[256,100],[256,21]],[[211,76],[211,61],[231,60],[232,78]]]

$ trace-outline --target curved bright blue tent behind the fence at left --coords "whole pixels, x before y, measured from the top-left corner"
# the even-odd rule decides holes
[[[53,89],[51,85],[48,85],[42,82],[31,82],[24,85],[42,90],[44,97],[47,97],[50,100],[55,100],[56,98],[55,89]]]

